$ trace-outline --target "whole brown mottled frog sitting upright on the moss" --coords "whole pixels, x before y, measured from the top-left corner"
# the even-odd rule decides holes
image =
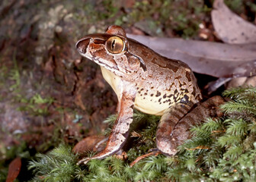
[[[127,38],[118,26],[108,27],[106,33],[85,36],[76,48],[80,55],[101,66],[104,79],[118,98],[118,117],[107,146],[78,163],[105,158],[121,149],[133,122],[133,108],[162,116],[156,131],[156,146],[165,155],[176,154],[177,146],[189,137],[190,125],[197,122],[182,119],[202,99],[190,67]]]

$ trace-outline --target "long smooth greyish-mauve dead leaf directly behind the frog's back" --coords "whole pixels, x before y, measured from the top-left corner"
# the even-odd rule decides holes
[[[256,75],[256,43],[229,45],[219,42],[127,34],[167,58],[187,63],[193,71],[213,77]]]

